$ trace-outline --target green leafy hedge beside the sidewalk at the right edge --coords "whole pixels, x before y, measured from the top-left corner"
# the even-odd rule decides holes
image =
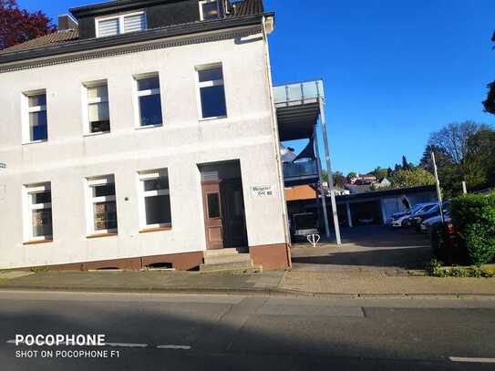
[[[450,202],[452,223],[459,232],[467,263],[480,266],[495,259],[495,192],[468,194]]]

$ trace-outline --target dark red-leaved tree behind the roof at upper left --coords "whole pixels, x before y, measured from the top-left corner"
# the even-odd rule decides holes
[[[43,12],[28,12],[16,0],[0,0],[0,49],[55,32],[57,27]]]

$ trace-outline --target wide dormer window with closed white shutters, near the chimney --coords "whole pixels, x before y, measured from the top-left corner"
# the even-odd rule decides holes
[[[144,11],[123,15],[111,15],[96,20],[97,37],[128,34],[146,29]]]

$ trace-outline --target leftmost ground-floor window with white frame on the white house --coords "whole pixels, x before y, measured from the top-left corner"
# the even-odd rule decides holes
[[[52,240],[52,191],[50,183],[26,185],[25,200],[26,241]]]

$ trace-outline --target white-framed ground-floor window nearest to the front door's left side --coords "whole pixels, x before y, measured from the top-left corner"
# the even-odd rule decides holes
[[[141,228],[171,227],[169,172],[139,172],[139,219]]]

